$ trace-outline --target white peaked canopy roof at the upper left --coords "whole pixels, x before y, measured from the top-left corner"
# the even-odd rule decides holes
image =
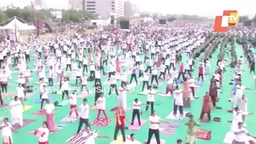
[[[0,27],[0,30],[14,30],[15,27],[17,27],[17,30],[35,30],[36,29],[36,27],[32,25],[28,25],[26,23],[22,23],[16,17],[14,17],[11,22],[9,22],[3,27]]]

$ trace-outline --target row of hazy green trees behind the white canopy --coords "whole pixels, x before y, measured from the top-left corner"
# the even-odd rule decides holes
[[[54,11],[62,11],[62,23],[80,23],[85,19],[98,19],[98,14],[91,14],[88,11],[83,10],[56,10],[53,8],[50,9],[41,9],[34,10],[35,17],[37,19],[54,21],[56,16],[52,14]],[[32,23],[33,18],[33,9],[30,6],[24,8],[7,8],[5,11],[0,10],[0,23],[8,20],[8,18],[12,18],[17,16],[18,18],[23,19],[24,21]]]

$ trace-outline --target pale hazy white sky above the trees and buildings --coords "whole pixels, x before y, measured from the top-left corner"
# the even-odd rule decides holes
[[[1,0],[4,1],[4,0]],[[130,0],[139,6],[141,11],[158,11],[165,14],[198,14],[215,16],[223,10],[238,10],[241,15],[256,14],[256,0]],[[8,0],[14,5],[29,5],[30,0]],[[46,0],[48,7],[59,8],[68,5],[69,0]],[[61,5],[59,5],[61,4]],[[0,5],[4,5],[1,4]],[[6,5],[6,4],[5,4]]]

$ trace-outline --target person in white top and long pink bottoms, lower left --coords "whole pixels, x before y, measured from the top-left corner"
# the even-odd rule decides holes
[[[54,105],[50,102],[49,99],[46,101],[46,105],[44,107],[44,110],[46,110],[46,122],[48,123],[48,129],[50,132],[54,132],[54,114],[55,114],[55,107]]]

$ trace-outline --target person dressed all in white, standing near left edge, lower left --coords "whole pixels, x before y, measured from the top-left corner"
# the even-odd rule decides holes
[[[14,100],[12,100],[9,105],[11,106],[11,124],[14,125],[16,122],[18,122],[19,125],[22,127],[23,114],[21,108],[21,101],[19,100],[18,96],[15,96]]]

